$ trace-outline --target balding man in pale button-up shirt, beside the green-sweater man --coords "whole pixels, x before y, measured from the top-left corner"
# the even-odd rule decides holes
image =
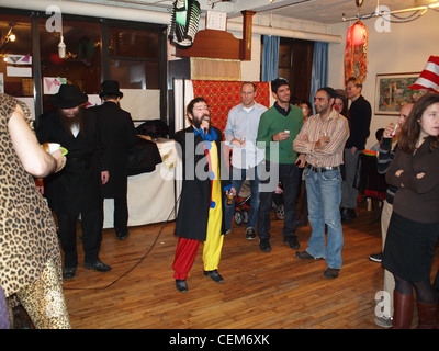
[[[258,165],[264,159],[264,150],[256,147],[259,120],[267,107],[255,101],[256,84],[244,82],[241,86],[241,103],[234,106],[227,118],[224,129],[226,144],[232,147],[230,178],[232,184],[239,194],[239,190],[246,180],[250,181],[250,213],[246,225],[247,239],[256,238],[256,222],[259,210],[259,183]],[[230,205],[226,204],[225,225],[226,233],[230,231],[232,217],[235,213],[235,200]]]

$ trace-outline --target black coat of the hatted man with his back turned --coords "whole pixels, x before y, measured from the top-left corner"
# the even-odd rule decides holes
[[[133,120],[128,112],[114,102],[105,102],[90,110],[98,116],[102,149],[110,173],[109,181],[102,185],[102,196],[122,196],[127,190],[127,152],[138,140]]]

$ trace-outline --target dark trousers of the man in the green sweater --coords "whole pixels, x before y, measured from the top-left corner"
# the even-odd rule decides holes
[[[270,168],[279,168],[279,181],[283,185],[283,200],[285,206],[285,217],[283,218],[283,237],[295,235],[297,226],[297,211],[295,201],[299,190],[299,167],[294,163],[275,163],[266,161],[266,172],[270,173]],[[264,179],[261,183],[272,182],[272,179]],[[270,215],[273,201],[273,192],[263,191],[260,193],[260,204],[258,213],[258,235],[260,239],[270,238]]]

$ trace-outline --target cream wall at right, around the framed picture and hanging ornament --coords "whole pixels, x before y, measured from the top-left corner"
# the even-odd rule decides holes
[[[407,14],[402,14],[407,15]],[[363,82],[364,98],[374,106],[375,77],[383,73],[420,72],[430,55],[439,56],[439,13],[429,10],[423,18],[408,23],[391,23],[390,32],[375,30],[376,19],[362,21],[369,30],[368,77]],[[346,32],[352,23],[328,26],[330,34],[344,35],[342,44],[329,44],[329,82],[344,87]],[[367,147],[376,143],[375,131],[394,122],[396,116],[372,115]]]

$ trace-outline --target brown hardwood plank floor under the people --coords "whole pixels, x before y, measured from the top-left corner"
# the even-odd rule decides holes
[[[75,329],[380,329],[375,293],[383,269],[370,253],[381,250],[375,213],[361,210],[344,225],[344,264],[338,279],[323,275],[324,260],[299,260],[282,242],[282,222],[272,220],[270,253],[247,240],[244,225],[225,237],[219,273],[225,283],[203,275],[202,245],[188,279],[189,292],[175,287],[171,269],[175,223],[131,228],[115,239],[105,229],[101,260],[113,267],[100,273],[78,268],[65,282]],[[309,226],[297,229],[306,248]],[[79,249],[82,252],[82,249]],[[81,259],[81,258],[80,258]],[[438,258],[435,258],[434,271]]]

